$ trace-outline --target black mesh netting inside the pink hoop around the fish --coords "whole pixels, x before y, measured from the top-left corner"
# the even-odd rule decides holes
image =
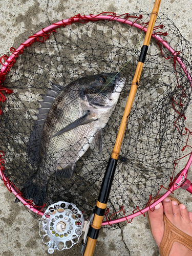
[[[149,16],[143,13],[137,23],[146,23]],[[156,32],[167,32],[161,37],[178,52],[190,74],[191,45],[163,14],[157,18],[155,26],[161,24],[163,28]],[[5,153],[5,174],[19,190],[42,168],[38,161],[30,162],[28,144],[39,102],[47,89],[51,89],[50,82],[65,90],[65,86],[77,78],[117,73],[131,59],[121,71],[121,77],[126,78],[125,87],[102,131],[102,156],[89,147],[77,161],[72,177],[66,179],[56,169],[51,177],[47,175],[49,163],[53,165],[58,156],[65,158],[65,147],[57,154],[47,153],[49,161],[45,164],[44,175],[41,172],[40,180],[36,180],[40,183],[48,180],[47,206],[60,200],[72,202],[84,211],[85,218],[89,216],[112,153],[144,36],[144,32],[115,21],[76,23],[58,28],[43,44],[35,42],[18,56],[3,83],[13,93],[1,104],[0,140]],[[121,206],[126,215],[132,214],[137,206],[142,209],[150,195],[158,193],[160,185],[168,185],[174,161],[181,155],[183,116],[190,97],[190,82],[183,69],[169,51],[152,39],[118,158],[108,203],[109,215]],[[75,148],[72,144],[67,150],[75,156]],[[113,218],[122,215],[120,211]]]

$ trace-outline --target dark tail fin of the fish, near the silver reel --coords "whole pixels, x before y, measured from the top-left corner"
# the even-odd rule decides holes
[[[33,200],[33,204],[36,206],[42,206],[44,204],[45,195],[46,195],[46,184],[39,185],[34,178],[28,180],[24,187],[20,190],[22,197],[25,199]],[[18,203],[19,200],[16,198],[15,203]]]

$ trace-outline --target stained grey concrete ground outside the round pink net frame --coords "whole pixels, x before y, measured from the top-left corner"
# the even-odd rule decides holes
[[[77,13],[97,14],[103,11],[133,13],[140,10],[150,13],[152,0],[1,0],[0,1],[0,53],[10,47],[17,48],[28,36],[51,23]],[[192,38],[191,0],[162,0],[160,12],[174,21],[182,35]],[[189,115],[190,118],[190,115]],[[191,120],[191,119],[189,119]],[[191,126],[189,126],[191,128]],[[0,148],[1,150],[1,148]],[[189,169],[189,174],[191,172]],[[179,189],[175,195],[192,210],[190,195]],[[47,246],[38,235],[38,221],[33,219],[22,204],[14,204],[14,196],[0,182],[0,255],[25,256],[48,255]],[[56,251],[54,255],[80,255],[79,244],[70,250]],[[94,255],[106,256],[158,256],[158,247],[153,240],[147,220],[137,217],[122,229],[102,229]]]

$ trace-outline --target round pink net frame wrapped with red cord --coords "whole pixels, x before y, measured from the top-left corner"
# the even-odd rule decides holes
[[[103,15],[103,14],[106,14],[106,15]],[[131,20],[129,20],[129,18],[133,18],[133,16],[129,16],[128,13],[123,14],[123,15],[125,15],[125,18],[120,18],[120,16],[122,16],[122,15],[116,15],[115,13],[108,13],[108,12],[100,13],[98,15],[90,14],[90,15],[83,15],[83,16],[81,16],[80,14],[77,14],[74,17],[71,17],[69,19],[61,20],[60,22],[54,23],[51,26],[48,26],[47,28],[42,28],[42,30],[40,30],[36,34],[34,34],[33,36],[30,36],[29,39],[26,40],[23,44],[21,44],[17,49],[11,48],[10,49],[10,51],[12,53],[11,56],[8,57],[7,55],[3,55],[0,58],[0,62],[3,65],[3,67],[0,71],[0,85],[5,80],[7,72],[9,72],[11,67],[14,65],[15,59],[18,57],[19,54],[23,53],[23,50],[26,47],[30,47],[31,44],[35,41],[40,41],[40,42],[43,43],[44,41],[46,41],[49,38],[50,34],[53,33],[53,32],[56,32],[56,29],[59,28],[59,27],[66,27],[66,26],[71,25],[73,23],[88,23],[88,22],[98,22],[99,20],[109,20],[109,21],[113,20],[115,22],[119,22],[119,23],[123,23],[123,24],[129,25],[129,26],[133,26],[133,27],[137,28],[138,30],[142,30],[143,32],[146,33],[147,25],[145,25],[143,27],[142,25],[136,23],[137,20],[140,17],[136,18],[134,16],[134,18],[136,18],[136,19],[135,19],[134,22],[132,22]],[[173,55],[174,61],[177,61],[179,63],[179,65],[183,69],[183,72],[185,73],[187,79],[189,80],[190,86],[192,88],[192,79],[191,79],[190,74],[189,74],[188,70],[186,69],[184,63],[182,62],[181,58],[178,56],[178,53],[172,47],[170,47],[168,42],[166,42],[164,39],[162,39],[160,34],[156,33],[155,30],[152,34],[152,37],[157,41],[158,45],[162,45]],[[3,60],[4,60],[4,63],[2,62]],[[1,91],[4,91],[5,94],[10,94],[10,93],[12,93],[12,91],[9,90],[9,89],[4,88],[2,86],[0,87],[0,100],[2,102],[5,102],[6,97],[1,93]],[[0,112],[0,114],[2,114],[2,112]],[[5,154],[2,151],[0,151],[0,152],[1,152],[1,154],[0,154],[0,166],[1,166],[0,175],[2,177],[2,180],[5,184],[5,186],[8,188],[10,193],[13,193],[15,195],[15,197],[17,197],[26,207],[28,207],[35,214],[37,214],[39,216],[42,216],[44,214],[44,211],[42,210],[42,208],[44,208],[45,205],[43,205],[42,207],[35,207],[30,200],[26,200],[22,197],[19,190],[14,186],[14,184],[11,181],[9,181],[8,177],[5,176],[5,174],[4,174],[5,167],[2,165],[2,164],[4,164],[4,159],[2,159],[2,157]],[[168,187],[166,193],[162,197],[157,199],[154,203],[151,203],[152,198],[150,198],[148,200],[148,203],[147,203],[148,206],[146,206],[142,210],[136,208],[134,210],[133,214],[131,214],[129,216],[124,216],[123,218],[119,218],[119,219],[115,219],[115,220],[110,220],[109,219],[108,221],[104,221],[102,223],[102,225],[103,226],[104,225],[112,225],[112,224],[119,223],[119,222],[122,222],[122,221],[131,222],[131,220],[133,218],[135,218],[135,217],[137,217],[141,214],[144,215],[144,212],[146,212],[147,210],[152,209],[155,205],[160,203],[169,194],[171,194],[171,193],[173,194],[174,190],[178,189],[179,187],[183,186],[184,189],[186,189],[187,191],[189,191],[189,193],[192,194],[192,185],[191,185],[190,181],[188,181],[186,179],[188,168],[189,168],[189,166],[192,162],[192,152],[189,153],[188,155],[189,155],[189,158],[188,158],[188,161],[187,161],[185,167],[181,170],[181,172],[179,172],[177,174],[177,176],[175,178],[172,177],[172,182],[169,184],[169,187]],[[187,186],[185,186],[186,183],[188,184]],[[123,211],[123,207],[120,210]],[[105,217],[106,217],[107,214],[108,214],[108,212],[106,211]],[[107,218],[106,218],[106,220],[107,220]]]

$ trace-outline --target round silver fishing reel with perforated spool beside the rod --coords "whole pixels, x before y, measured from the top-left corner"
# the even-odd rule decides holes
[[[84,225],[82,212],[72,203],[58,202],[50,205],[39,223],[42,242],[54,249],[70,249],[79,241]]]

